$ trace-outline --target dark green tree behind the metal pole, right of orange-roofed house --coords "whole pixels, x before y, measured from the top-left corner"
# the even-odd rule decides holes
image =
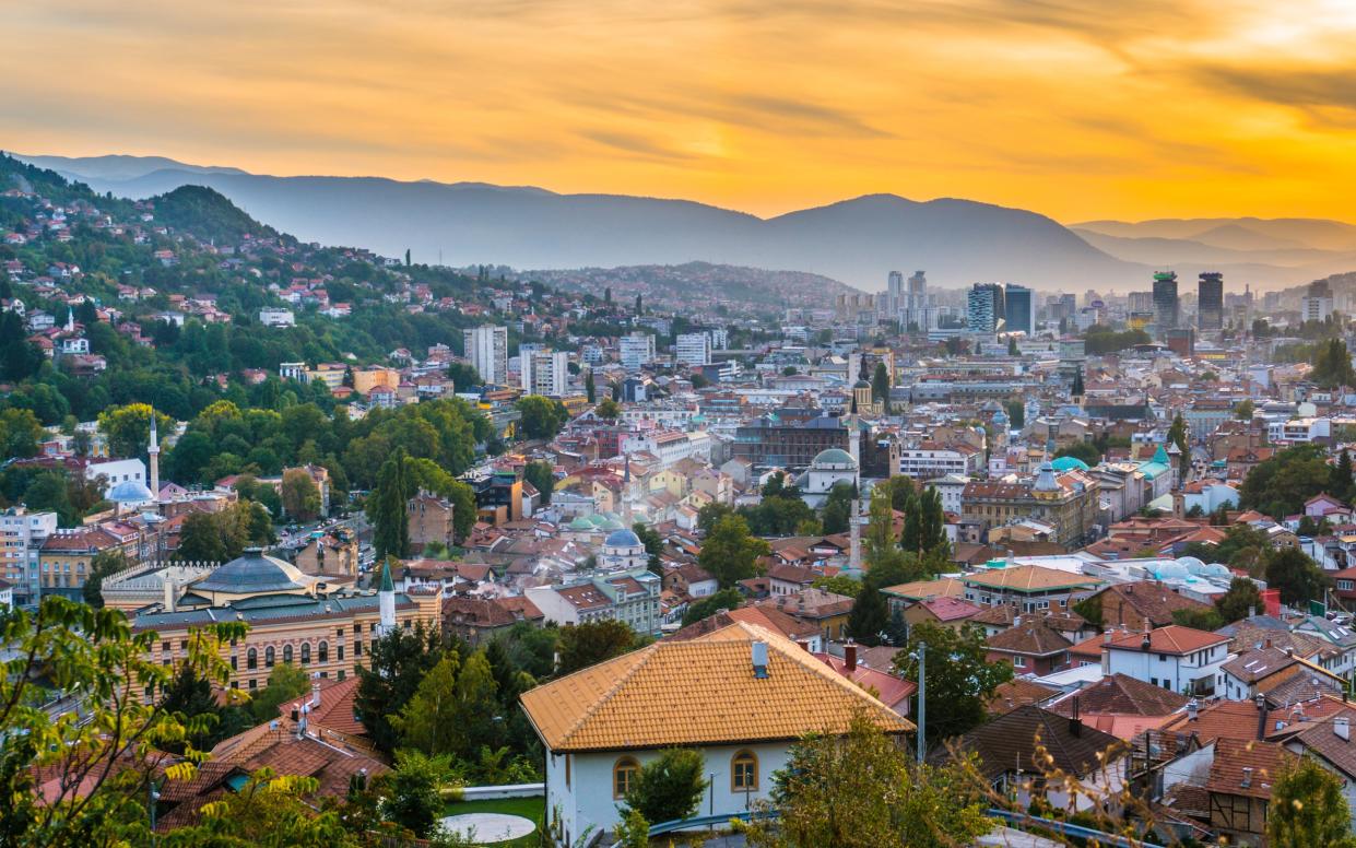
[[[984,631],[967,624],[956,631],[932,621],[915,624],[909,644],[895,654],[895,670],[918,682],[918,661],[913,657],[926,643],[928,744],[960,735],[987,719],[984,704],[994,689],[1013,677],[1006,662],[989,662]],[[917,714],[915,714],[917,715]]]

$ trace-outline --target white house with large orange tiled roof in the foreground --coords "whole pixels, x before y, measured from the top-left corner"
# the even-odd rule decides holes
[[[795,642],[742,621],[567,674],[522,706],[546,749],[548,828],[570,845],[612,830],[640,768],[667,748],[705,757],[701,814],[734,815],[770,796],[807,733],[846,733],[858,712],[885,733],[914,729]]]

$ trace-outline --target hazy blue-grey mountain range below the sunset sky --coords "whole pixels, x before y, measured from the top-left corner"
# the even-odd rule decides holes
[[[1229,289],[1295,285],[1356,269],[1356,227],[1326,220],[1199,218],[1064,227],[965,199],[872,194],[759,218],[679,199],[557,194],[485,183],[268,176],[163,157],[18,156],[96,191],[221,191],[304,240],[452,266],[579,269],[693,261],[823,274],[865,290],[891,270],[937,286],[1002,280],[1041,289],[1143,289],[1154,270],[1224,273]]]

